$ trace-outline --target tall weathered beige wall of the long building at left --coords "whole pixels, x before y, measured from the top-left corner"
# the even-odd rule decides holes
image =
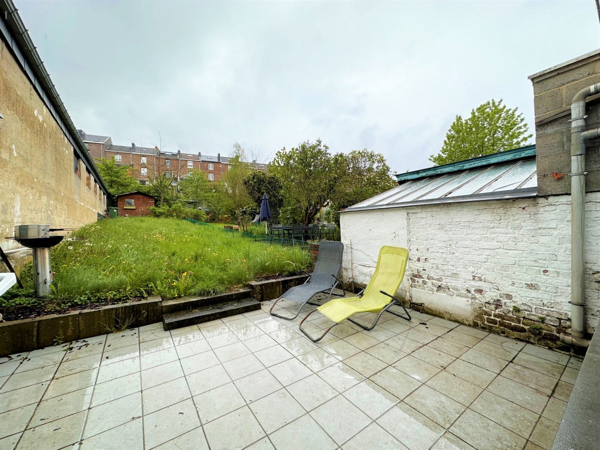
[[[15,225],[76,228],[97,220],[106,197],[0,40],[0,239]]]

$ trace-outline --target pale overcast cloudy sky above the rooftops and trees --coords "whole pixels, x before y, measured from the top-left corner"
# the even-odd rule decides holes
[[[263,163],[321,139],[424,169],[492,98],[535,136],[527,77],[600,48],[594,0],[14,2],[77,128]]]

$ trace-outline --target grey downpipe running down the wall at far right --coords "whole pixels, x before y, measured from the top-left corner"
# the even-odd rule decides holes
[[[600,83],[581,89],[571,104],[571,335],[560,335],[568,345],[587,347],[585,338],[584,228],[586,201],[586,140],[598,130],[586,131],[586,98],[600,94]]]

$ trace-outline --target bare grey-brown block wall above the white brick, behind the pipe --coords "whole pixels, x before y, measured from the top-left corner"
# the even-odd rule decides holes
[[[533,83],[538,194],[571,192],[571,103],[581,89],[600,82],[600,50],[529,77]],[[600,127],[600,95],[587,98],[586,128]],[[586,190],[600,191],[600,139],[587,142]],[[562,173],[554,179],[552,172]]]

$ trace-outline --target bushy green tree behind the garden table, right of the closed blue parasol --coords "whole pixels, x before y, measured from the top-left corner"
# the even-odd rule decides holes
[[[338,173],[329,147],[320,139],[314,143],[307,140],[290,150],[284,147],[275,154],[269,170],[283,186],[281,222],[311,224],[331,202]]]

